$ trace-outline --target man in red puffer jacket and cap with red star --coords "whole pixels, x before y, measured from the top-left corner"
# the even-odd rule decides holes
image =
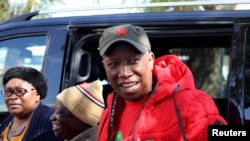
[[[177,56],[155,60],[141,27],[105,29],[99,50],[114,92],[99,122],[98,141],[206,141],[208,125],[227,124]]]

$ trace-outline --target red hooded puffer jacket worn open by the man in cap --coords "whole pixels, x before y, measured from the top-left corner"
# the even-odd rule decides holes
[[[133,121],[131,140],[207,141],[208,125],[227,124],[213,99],[195,88],[190,69],[177,56],[156,59],[153,76],[157,84],[140,116]],[[113,97],[114,94],[110,94],[107,98],[107,108],[98,126],[98,141],[109,140]]]

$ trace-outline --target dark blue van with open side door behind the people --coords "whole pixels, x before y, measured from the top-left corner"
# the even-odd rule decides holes
[[[169,11],[37,18],[39,11],[0,24],[0,77],[14,65],[48,78],[52,106],[64,88],[99,78],[112,90],[98,52],[104,28],[130,23],[149,35],[156,57],[179,56],[196,87],[208,92],[229,124],[250,121],[250,10]],[[1,79],[1,78],[0,78]],[[0,83],[0,89],[2,84]],[[0,98],[1,119],[7,113]]]

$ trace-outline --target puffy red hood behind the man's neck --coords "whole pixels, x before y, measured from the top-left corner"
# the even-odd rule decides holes
[[[175,55],[166,55],[157,58],[154,62],[153,75],[157,81],[155,94],[158,96],[155,98],[158,100],[169,98],[177,85],[179,85],[179,92],[195,88],[191,70]]]

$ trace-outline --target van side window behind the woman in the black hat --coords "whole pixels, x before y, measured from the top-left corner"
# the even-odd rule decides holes
[[[46,50],[45,35],[0,39],[0,88],[6,70],[13,66],[29,66],[41,71]],[[1,111],[6,109],[0,99]],[[3,107],[2,107],[3,106]],[[5,111],[5,110],[4,110]]]

